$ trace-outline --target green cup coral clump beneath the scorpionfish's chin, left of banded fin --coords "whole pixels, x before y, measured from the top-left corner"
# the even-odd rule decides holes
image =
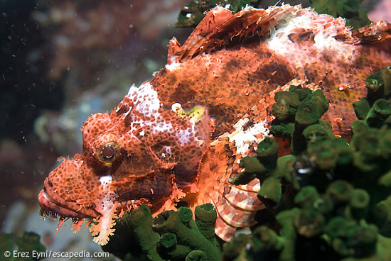
[[[212,204],[164,211],[152,218],[148,206],[124,214],[103,250],[123,260],[220,260]]]

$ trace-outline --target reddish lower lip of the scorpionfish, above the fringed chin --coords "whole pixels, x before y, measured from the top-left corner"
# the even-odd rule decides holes
[[[55,213],[64,218],[94,218],[97,216],[97,212],[92,209],[89,209],[88,211],[91,213],[85,213],[86,211],[75,211],[64,204],[61,204],[53,199],[46,189],[42,189],[41,192],[39,192],[38,201],[43,212]]]

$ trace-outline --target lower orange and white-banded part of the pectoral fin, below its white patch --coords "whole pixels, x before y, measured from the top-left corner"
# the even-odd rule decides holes
[[[240,157],[235,153],[235,143],[227,138],[211,146],[203,155],[199,169],[200,191],[190,204],[191,208],[205,203],[215,206],[218,212],[215,233],[225,241],[232,239],[236,228],[255,225],[255,213],[264,208],[257,198],[257,180],[241,186],[228,182],[232,175],[241,170],[237,160]]]

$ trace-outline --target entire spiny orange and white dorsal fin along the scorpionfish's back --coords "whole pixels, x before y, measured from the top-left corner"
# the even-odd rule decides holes
[[[198,53],[208,53],[221,48],[230,43],[232,38],[244,38],[249,35],[266,36],[298,16],[303,16],[303,23],[296,24],[297,28],[291,28],[293,34],[297,30],[296,35],[289,35],[292,41],[309,40],[318,34],[352,44],[358,44],[360,40],[368,43],[379,37],[384,38],[383,43],[390,39],[390,23],[385,21],[355,30],[353,34],[345,25],[343,18],[318,14],[311,8],[302,9],[300,5],[284,4],[271,6],[266,10],[247,6],[235,14],[221,6],[216,6],[206,14],[183,46],[175,38],[171,40],[168,45],[168,65],[191,59]]]

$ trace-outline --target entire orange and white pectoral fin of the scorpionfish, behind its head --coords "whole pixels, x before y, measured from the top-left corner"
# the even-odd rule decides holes
[[[305,85],[304,81],[292,80],[284,87],[277,87],[275,91],[286,90],[290,84]],[[236,228],[255,225],[255,213],[264,209],[264,204],[257,198],[260,184],[258,179],[253,179],[248,184],[235,186],[229,183],[231,177],[235,177],[242,171],[239,167],[240,159],[255,153],[257,143],[263,140],[266,133],[254,133],[256,140],[248,144],[247,152],[237,152],[235,135],[241,133],[259,122],[272,121],[270,108],[274,103],[274,91],[264,96],[245,116],[235,124],[234,130],[221,135],[210,144],[205,152],[198,169],[198,191],[196,196],[189,195],[191,201],[185,199],[192,209],[196,205],[212,203],[218,212],[215,223],[215,233],[219,238],[229,241],[232,239]],[[244,124],[242,124],[244,123]],[[251,139],[250,139],[251,140]]]

